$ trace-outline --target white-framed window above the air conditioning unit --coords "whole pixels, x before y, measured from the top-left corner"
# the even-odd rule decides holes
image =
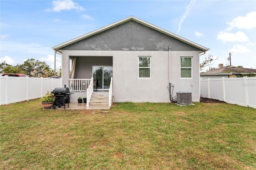
[[[180,78],[192,78],[192,57],[180,57]]]

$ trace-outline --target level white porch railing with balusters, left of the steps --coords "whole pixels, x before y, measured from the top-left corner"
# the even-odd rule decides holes
[[[69,79],[70,91],[87,91],[93,79]]]

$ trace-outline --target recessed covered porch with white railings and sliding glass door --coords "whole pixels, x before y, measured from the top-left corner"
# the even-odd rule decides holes
[[[65,58],[65,57],[63,57]],[[112,103],[112,77],[113,77],[113,57],[112,56],[83,56],[69,55],[63,64],[62,84],[70,89],[70,103],[78,103],[78,97],[86,98],[86,106],[89,105],[109,105]],[[68,61],[68,62],[67,62]],[[68,79],[66,79],[68,78]],[[108,101],[104,94],[104,103],[96,103],[92,96],[94,92],[108,92]],[[93,98],[93,99],[92,99]],[[94,102],[92,102],[94,101]],[[100,103],[100,104],[99,104]]]

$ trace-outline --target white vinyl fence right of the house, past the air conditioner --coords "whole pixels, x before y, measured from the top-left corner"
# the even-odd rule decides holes
[[[200,95],[226,103],[256,108],[256,77],[200,80]]]

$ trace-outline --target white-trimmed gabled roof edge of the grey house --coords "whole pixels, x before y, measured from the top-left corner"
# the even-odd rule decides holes
[[[118,22],[114,22],[113,24],[110,24],[110,25],[104,26],[104,27],[102,27],[102,28],[100,28],[100,29],[98,29],[98,30],[89,32],[88,34],[84,34],[84,35],[82,35],[82,36],[80,36],[80,37],[77,37],[77,38],[74,38],[74,39],[69,40],[69,41],[67,41],[67,42],[64,42],[64,43],[61,43],[61,44],[59,44],[59,45],[56,45],[56,46],[52,47],[52,49],[59,51],[59,49],[61,49],[62,47],[65,47],[65,46],[70,45],[70,44],[72,44],[72,43],[75,43],[75,42],[78,42],[78,41],[80,41],[80,40],[86,39],[86,38],[88,38],[88,37],[90,37],[90,36],[93,36],[93,35],[98,34],[98,33],[100,33],[100,32],[106,31],[106,30],[108,30],[108,29],[110,29],[110,28],[113,28],[113,27],[115,27],[115,26],[118,26],[118,25],[120,25],[120,24],[123,24],[123,23],[125,23],[125,22],[128,22],[128,21],[130,21],[130,20],[133,20],[133,21],[138,22],[138,23],[140,23],[140,24],[142,24],[142,25],[144,25],[144,26],[147,26],[147,27],[149,27],[149,28],[152,28],[152,29],[154,29],[154,30],[157,30],[158,32],[161,32],[161,33],[163,33],[163,34],[166,34],[166,35],[168,35],[168,36],[170,36],[170,37],[172,37],[172,38],[176,38],[177,40],[180,40],[180,41],[182,41],[182,42],[184,42],[184,43],[187,43],[187,44],[189,44],[189,45],[192,45],[192,46],[194,46],[194,47],[196,47],[196,48],[198,48],[198,49],[201,49],[202,51],[208,51],[208,50],[209,50],[209,48],[206,48],[206,47],[204,47],[204,46],[202,46],[202,45],[199,45],[199,44],[194,43],[194,42],[192,42],[192,41],[190,41],[190,40],[187,40],[187,39],[185,39],[185,38],[183,38],[183,37],[181,37],[181,36],[178,36],[178,35],[176,35],[176,34],[173,34],[172,32],[168,32],[168,31],[166,31],[166,30],[164,30],[164,29],[162,29],[162,28],[160,28],[160,27],[154,26],[153,24],[150,24],[150,23],[148,23],[148,22],[145,22],[145,21],[143,21],[143,20],[140,20],[139,18],[136,18],[136,17],[134,17],[134,16],[129,16],[129,17],[124,18],[124,19],[122,19],[122,20],[120,20],[120,21],[118,21]],[[60,51],[61,51],[61,50],[60,50]]]

